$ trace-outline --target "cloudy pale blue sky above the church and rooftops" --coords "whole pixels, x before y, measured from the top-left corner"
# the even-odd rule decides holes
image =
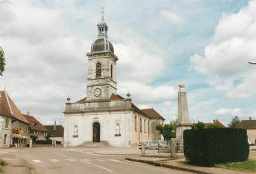
[[[21,112],[59,123],[86,95],[86,53],[101,7],[117,61],[117,93],[176,120],[179,81],[192,122],[256,119],[256,0],[0,0],[0,76]]]

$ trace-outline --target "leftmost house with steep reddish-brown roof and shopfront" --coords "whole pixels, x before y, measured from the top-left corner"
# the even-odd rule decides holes
[[[0,146],[27,146],[30,135],[29,122],[6,91],[0,91],[0,117]]]

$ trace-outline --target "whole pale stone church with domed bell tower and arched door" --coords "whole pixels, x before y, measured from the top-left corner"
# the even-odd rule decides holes
[[[164,118],[153,108],[139,109],[127,93],[117,95],[116,66],[119,59],[108,39],[108,25],[97,24],[98,36],[88,57],[86,97],[65,104],[64,146],[138,146],[160,141],[155,129]]]

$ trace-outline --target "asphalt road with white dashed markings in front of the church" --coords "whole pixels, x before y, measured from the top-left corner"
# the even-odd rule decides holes
[[[93,148],[24,148],[12,152],[28,163],[35,174],[183,174],[189,173],[144,163],[129,162],[123,155],[93,154]]]

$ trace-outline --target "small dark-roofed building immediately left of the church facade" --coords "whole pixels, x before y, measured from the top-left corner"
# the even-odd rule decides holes
[[[46,129],[49,131],[49,139],[56,141],[57,144],[63,144],[64,137],[64,127],[62,125],[45,125]]]

